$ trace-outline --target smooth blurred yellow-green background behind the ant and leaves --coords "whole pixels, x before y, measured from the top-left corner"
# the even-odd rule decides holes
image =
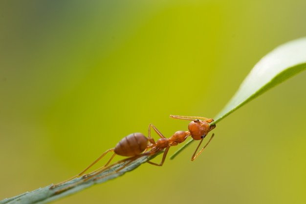
[[[167,137],[187,130],[170,114],[214,117],[265,54],[306,36],[305,8],[305,0],[2,0],[0,200],[74,176],[122,137],[147,135],[150,123]],[[197,142],[170,160],[173,147],[162,167],[144,164],[55,203],[304,204],[305,78],[218,123],[195,161]]]

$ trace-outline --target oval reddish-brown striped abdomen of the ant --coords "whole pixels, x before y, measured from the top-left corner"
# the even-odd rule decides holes
[[[148,138],[142,133],[132,133],[122,138],[115,146],[117,155],[131,157],[142,153],[148,147]]]

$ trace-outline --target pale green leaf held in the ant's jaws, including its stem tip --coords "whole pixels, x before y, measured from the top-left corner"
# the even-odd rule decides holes
[[[215,117],[216,124],[230,113],[306,69],[306,38],[281,45],[264,56],[244,79],[240,88]],[[190,140],[170,158],[174,159],[193,140]]]

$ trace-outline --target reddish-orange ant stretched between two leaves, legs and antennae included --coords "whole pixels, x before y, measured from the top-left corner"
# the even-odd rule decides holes
[[[74,177],[71,177],[70,179],[68,179],[66,181],[57,183],[55,185],[51,185],[50,189],[55,188],[55,187],[57,187],[61,184],[66,183],[67,181],[70,181],[70,180],[75,179],[75,178],[77,178],[79,176],[82,176],[82,175],[83,175],[84,180],[79,181],[77,183],[85,182],[85,181],[89,180],[90,178],[92,178],[92,177],[102,173],[103,171],[109,169],[111,166],[114,166],[116,164],[128,161],[127,163],[123,164],[123,166],[120,167],[119,169],[117,169],[116,171],[111,172],[111,173],[117,173],[120,170],[122,170],[124,167],[129,165],[135,159],[138,159],[138,158],[143,157],[143,156],[153,156],[153,155],[156,155],[157,153],[164,150],[163,157],[162,157],[161,162],[159,164],[154,163],[152,161],[147,161],[150,164],[153,164],[153,165],[156,165],[156,166],[162,166],[165,159],[166,159],[166,156],[167,156],[167,153],[168,153],[170,147],[176,146],[176,145],[182,143],[183,141],[186,140],[186,138],[188,136],[192,136],[192,138],[195,139],[195,140],[201,140],[199,142],[198,146],[197,146],[197,149],[196,149],[195,153],[193,154],[193,156],[191,158],[191,160],[197,159],[199,154],[201,154],[201,152],[209,144],[209,142],[212,140],[212,138],[214,136],[214,134],[213,134],[211,136],[211,138],[209,139],[209,141],[206,143],[206,145],[197,153],[197,150],[198,150],[200,144],[202,143],[204,137],[207,136],[207,134],[216,127],[215,124],[210,125],[210,123],[213,122],[214,120],[212,118],[209,119],[209,118],[206,118],[206,117],[193,117],[193,116],[170,115],[170,117],[176,118],[176,119],[191,120],[191,122],[188,125],[188,130],[189,131],[177,131],[177,132],[175,132],[175,134],[173,136],[171,136],[169,138],[166,138],[165,136],[163,136],[157,130],[157,128],[155,126],[150,124],[149,125],[149,130],[148,130],[148,137],[144,136],[141,133],[133,133],[133,134],[130,134],[130,135],[122,138],[114,148],[111,148],[111,149],[107,150],[106,152],[104,152],[98,159],[93,161],[81,173],[79,173],[78,175],[76,175]],[[156,132],[156,134],[160,137],[160,139],[156,140],[156,142],[151,137],[151,129],[152,128]],[[93,166],[95,163],[97,163],[100,159],[102,159],[109,152],[114,152],[114,153],[110,157],[109,161],[104,166],[96,169],[93,172],[90,172],[88,174],[84,174],[91,166]],[[197,155],[196,155],[196,153],[197,153]],[[116,155],[130,157],[130,158],[120,160],[118,162],[115,162],[114,164],[111,164],[108,168],[105,168],[109,165],[110,161]],[[102,177],[105,177],[105,175],[101,176],[101,177],[98,177],[98,178],[95,178],[94,180],[101,179]],[[69,185],[69,186],[67,186],[67,187],[65,187],[65,188],[63,188],[59,191],[56,191],[55,193],[56,194],[61,193],[65,190],[73,187],[77,183],[71,184],[71,185]]]

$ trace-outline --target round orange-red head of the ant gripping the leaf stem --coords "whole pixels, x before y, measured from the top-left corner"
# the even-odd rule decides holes
[[[207,136],[209,131],[213,130],[216,125],[210,126],[210,124],[204,120],[193,120],[188,125],[188,130],[195,140],[200,140]]]

